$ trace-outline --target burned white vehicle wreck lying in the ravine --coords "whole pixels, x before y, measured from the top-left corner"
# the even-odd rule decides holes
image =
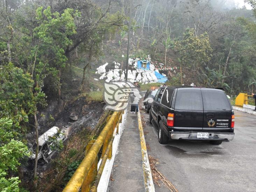
[[[48,159],[56,152],[54,150],[53,145],[55,141],[59,142],[64,140],[65,134],[61,131],[58,127],[52,127],[45,131],[42,135],[38,137],[38,144],[39,144],[39,151],[37,160],[38,163],[42,162],[43,160],[48,163]],[[55,141],[53,141],[55,140]],[[36,142],[33,144],[29,143],[31,155],[29,157],[30,160],[34,160],[36,158]],[[43,163],[43,162],[42,162]]]

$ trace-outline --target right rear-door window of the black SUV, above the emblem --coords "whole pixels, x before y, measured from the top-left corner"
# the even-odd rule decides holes
[[[227,95],[222,91],[202,90],[204,111],[231,111]]]

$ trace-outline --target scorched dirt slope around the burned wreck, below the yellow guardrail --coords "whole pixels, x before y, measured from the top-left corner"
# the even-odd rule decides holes
[[[97,125],[103,111],[104,103],[88,101],[86,97],[67,104],[62,112],[58,112],[57,102],[51,102],[39,118],[40,132],[39,135],[53,126],[58,127],[65,133],[64,148],[61,151],[53,151],[50,155],[45,156],[48,162],[41,158],[38,160],[37,175],[38,187],[41,191],[50,184],[48,179],[56,179],[59,170],[65,170],[67,165],[72,162],[73,153],[77,153],[83,145],[91,131]],[[34,137],[30,138],[30,143],[35,142]],[[62,158],[60,158],[62,156]],[[33,168],[34,160],[30,159],[26,167],[22,168],[22,184],[30,191],[33,190]],[[37,189],[38,190],[38,189]]]

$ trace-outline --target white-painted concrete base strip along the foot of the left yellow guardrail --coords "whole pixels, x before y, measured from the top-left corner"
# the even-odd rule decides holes
[[[120,137],[123,132],[123,124],[126,120],[126,114],[127,114],[127,109],[125,110],[125,113],[122,114],[122,123],[119,123],[118,133],[116,133],[116,136],[115,136],[113,144],[112,144],[112,157],[111,157],[111,159],[107,159],[106,164],[104,166],[104,169],[103,169],[103,172],[102,172],[102,175],[100,178],[100,182],[97,187],[97,191],[99,191],[99,192],[106,192],[108,189],[109,178],[110,178],[111,171],[113,168],[115,155],[117,153]],[[99,169],[100,163],[101,163],[101,159],[98,162],[98,169]]]

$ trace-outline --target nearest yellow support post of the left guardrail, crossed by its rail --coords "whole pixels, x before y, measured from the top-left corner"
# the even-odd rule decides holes
[[[87,155],[88,151],[91,149],[93,143],[96,140],[91,140],[86,148],[85,148],[85,156]],[[98,158],[96,157],[94,163],[92,164],[87,176],[84,179],[84,182],[81,186],[81,192],[89,192],[92,187],[92,182],[94,181],[95,177],[97,176],[97,165],[98,165]]]

